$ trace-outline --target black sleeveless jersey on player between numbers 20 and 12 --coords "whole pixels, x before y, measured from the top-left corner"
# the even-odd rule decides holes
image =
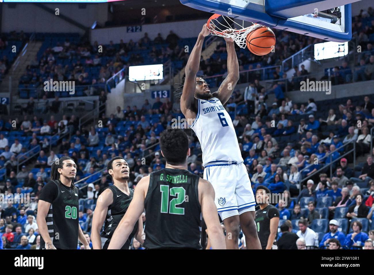
[[[110,189],[113,193],[113,203],[108,207],[108,213],[105,217],[104,230],[101,232],[101,248],[107,249],[110,239],[113,236],[114,230],[116,230],[122,217],[125,215],[127,209],[129,208],[130,202],[134,196],[134,189],[129,188],[130,194],[126,195],[115,185],[104,188]],[[104,191],[103,190],[103,191]],[[129,249],[131,244],[131,239],[138,232],[138,223],[135,223],[134,229],[132,230],[129,238],[122,246],[121,249]]]

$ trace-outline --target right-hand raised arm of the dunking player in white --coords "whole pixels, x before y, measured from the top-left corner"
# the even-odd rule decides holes
[[[233,30],[226,30],[230,33]],[[220,88],[213,95],[224,105],[231,97],[237,81],[239,80],[239,63],[235,52],[234,40],[225,38],[227,48],[227,77],[221,83]]]

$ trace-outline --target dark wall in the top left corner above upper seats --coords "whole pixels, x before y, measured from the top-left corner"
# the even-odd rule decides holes
[[[26,33],[84,33],[81,28],[68,23],[59,15],[47,12],[33,3],[16,3],[14,9],[9,8],[5,3],[1,5],[3,5],[1,14],[3,32],[15,30]],[[85,27],[91,27],[95,21],[104,25],[108,20],[108,3],[86,4],[85,9],[79,9],[78,4],[43,3],[43,5],[52,10],[59,8],[60,15],[67,16]]]

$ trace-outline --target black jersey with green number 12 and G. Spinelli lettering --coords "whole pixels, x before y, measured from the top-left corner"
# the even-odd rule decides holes
[[[144,247],[200,249],[199,176],[165,168],[150,174],[144,200]]]

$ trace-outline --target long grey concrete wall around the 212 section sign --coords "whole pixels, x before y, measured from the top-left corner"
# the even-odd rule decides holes
[[[126,27],[114,27],[114,28],[101,28],[91,30],[91,43],[97,41],[102,44],[109,44],[110,40],[113,43],[119,43],[121,39],[123,42],[129,42],[132,39],[137,42],[144,36],[144,33],[148,33],[150,39],[156,38],[158,33],[161,33],[163,39],[168,36],[171,30],[173,30],[179,37],[197,37],[202,29],[203,24],[206,20],[195,20],[195,21],[183,21],[183,22],[172,22],[172,23],[161,23],[143,25],[140,33],[127,33]],[[178,31],[183,30],[183,31]]]

